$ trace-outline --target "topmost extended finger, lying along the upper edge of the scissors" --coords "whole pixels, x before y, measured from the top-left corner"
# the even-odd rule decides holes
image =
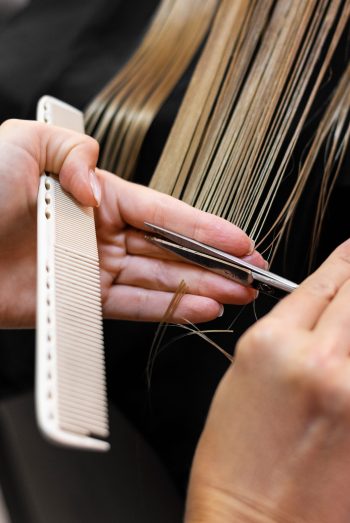
[[[254,250],[252,240],[238,227],[226,220],[194,209],[176,198],[114,178],[114,196],[110,194],[111,175],[98,170],[104,186],[104,197],[114,198],[124,224],[145,229],[144,222],[180,232],[208,243],[236,256],[245,256]]]

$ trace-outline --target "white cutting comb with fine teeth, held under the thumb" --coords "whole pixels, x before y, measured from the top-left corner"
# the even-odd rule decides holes
[[[44,96],[37,119],[84,132],[77,109]],[[108,450],[100,273],[93,209],[53,175],[38,193],[36,413],[51,441]]]

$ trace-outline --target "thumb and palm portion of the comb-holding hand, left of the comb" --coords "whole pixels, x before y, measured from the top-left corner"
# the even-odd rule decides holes
[[[32,327],[36,300],[36,200],[39,176],[60,172],[62,185],[96,205],[89,169],[98,145],[91,138],[38,122],[0,126],[0,326]]]

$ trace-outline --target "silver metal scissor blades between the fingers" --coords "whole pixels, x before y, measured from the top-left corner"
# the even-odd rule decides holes
[[[281,298],[298,287],[296,283],[282,276],[260,269],[241,258],[183,234],[148,222],[145,222],[145,226],[155,234],[146,235],[155,245],[246,287],[253,287],[275,298]]]

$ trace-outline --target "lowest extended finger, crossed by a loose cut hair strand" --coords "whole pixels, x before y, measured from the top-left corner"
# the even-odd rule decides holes
[[[136,321],[161,321],[164,318],[173,292],[153,291],[127,285],[115,285],[103,304],[104,317]],[[215,300],[186,294],[174,314],[173,323],[200,323],[217,318],[222,305]]]

